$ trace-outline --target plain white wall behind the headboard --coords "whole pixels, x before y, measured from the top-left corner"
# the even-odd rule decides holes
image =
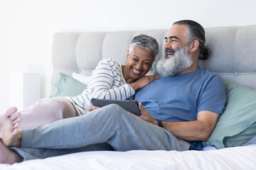
[[[255,0],[0,0],[0,113],[9,107],[9,73],[41,74],[50,95],[53,33],[169,29],[192,19],[204,27],[256,24]]]

